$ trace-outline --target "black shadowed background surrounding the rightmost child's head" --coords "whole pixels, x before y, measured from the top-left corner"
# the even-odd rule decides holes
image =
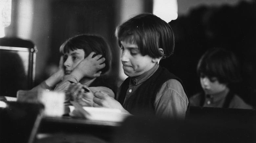
[[[256,2],[201,6],[169,24],[176,35],[175,52],[160,65],[181,78],[189,96],[202,90],[196,73],[200,57],[210,48],[221,47],[234,52],[241,63],[243,81],[233,90],[256,106]]]

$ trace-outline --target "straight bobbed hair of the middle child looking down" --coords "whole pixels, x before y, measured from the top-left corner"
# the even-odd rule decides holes
[[[123,40],[136,42],[143,56],[165,58],[174,51],[174,32],[171,26],[150,13],[136,15],[117,26],[116,37],[120,47]],[[164,54],[160,53],[159,48],[163,49]]]

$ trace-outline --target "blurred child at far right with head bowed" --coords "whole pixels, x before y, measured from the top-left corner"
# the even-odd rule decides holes
[[[239,62],[231,51],[213,48],[200,58],[197,73],[204,92],[190,98],[191,106],[252,109],[230,87],[241,81]]]

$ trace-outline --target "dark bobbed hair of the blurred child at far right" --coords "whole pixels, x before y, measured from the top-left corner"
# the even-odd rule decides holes
[[[220,83],[232,84],[241,81],[239,62],[231,51],[213,48],[200,58],[197,65],[199,76],[217,77]]]

